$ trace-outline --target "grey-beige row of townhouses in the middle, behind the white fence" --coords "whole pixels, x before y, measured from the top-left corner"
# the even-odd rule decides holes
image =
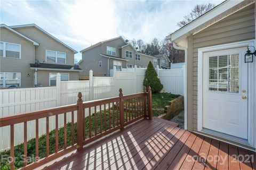
[[[137,52],[137,50],[120,36],[94,44],[81,50],[82,60],[78,62],[83,69],[80,79],[88,79],[89,71],[93,70],[95,76],[108,76],[109,70],[116,66],[122,68],[146,67],[151,61],[154,66],[158,64],[157,58]]]

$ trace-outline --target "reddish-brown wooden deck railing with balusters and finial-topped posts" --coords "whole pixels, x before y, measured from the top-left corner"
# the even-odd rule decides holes
[[[30,112],[19,115],[0,117],[0,127],[10,126],[10,166],[14,169],[14,125],[22,123],[24,126],[23,143],[23,169],[33,169],[51,160],[68,154],[74,150],[82,150],[87,143],[95,141],[116,130],[123,130],[128,124],[140,118],[152,119],[151,90],[144,87],[143,92],[123,96],[122,89],[119,97],[83,102],[81,92],[78,93],[77,104],[61,106],[42,111]],[[67,136],[67,114],[71,116],[71,137]],[[74,116],[77,117],[76,131]],[[63,116],[63,141],[59,141],[59,117]],[[55,146],[50,150],[49,118],[55,117]],[[45,157],[39,157],[39,120],[46,120]],[[27,164],[27,122],[34,121],[36,127],[35,162]],[[40,126],[41,127],[41,126]],[[62,129],[61,129],[62,131]],[[76,134],[76,138],[75,138]],[[67,141],[69,139],[69,141]],[[1,139],[4,140],[4,139]],[[76,140],[76,141],[75,141]],[[59,143],[63,142],[63,147]]]

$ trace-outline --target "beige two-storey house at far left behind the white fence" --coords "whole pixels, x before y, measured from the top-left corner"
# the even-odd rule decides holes
[[[36,24],[1,24],[0,87],[55,86],[62,80],[78,80],[74,66],[76,50],[62,43]]]

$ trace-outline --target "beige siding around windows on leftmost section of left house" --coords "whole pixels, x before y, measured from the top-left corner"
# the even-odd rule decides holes
[[[18,36],[5,28],[0,30],[0,41],[21,45],[21,59],[0,57],[1,72],[20,72],[21,87],[34,87],[34,71],[30,70],[30,63],[34,63],[35,46],[30,41]],[[29,77],[27,74],[29,73]]]

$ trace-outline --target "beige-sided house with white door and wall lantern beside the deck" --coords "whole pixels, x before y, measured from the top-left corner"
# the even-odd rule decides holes
[[[225,1],[168,37],[185,50],[186,128],[254,151],[255,16],[255,1]]]

